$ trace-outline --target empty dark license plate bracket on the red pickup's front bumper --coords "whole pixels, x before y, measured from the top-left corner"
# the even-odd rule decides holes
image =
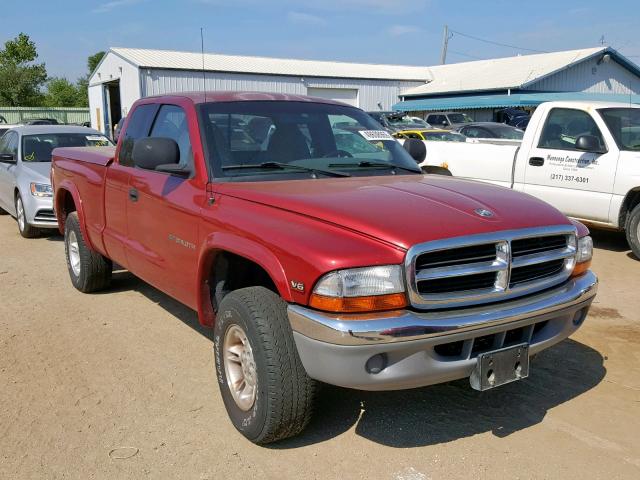
[[[526,343],[478,355],[469,381],[474,390],[489,390],[529,376],[529,345]]]

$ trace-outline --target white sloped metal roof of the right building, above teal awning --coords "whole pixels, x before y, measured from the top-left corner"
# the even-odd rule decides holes
[[[429,83],[411,88],[402,96],[526,88],[544,77],[604,53],[611,54],[616,61],[640,75],[637,65],[611,48],[585,48],[437,65],[429,68]]]

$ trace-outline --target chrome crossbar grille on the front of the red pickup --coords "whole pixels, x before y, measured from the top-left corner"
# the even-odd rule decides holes
[[[416,245],[405,268],[417,308],[467,306],[526,295],[565,281],[575,265],[570,226],[510,230]]]

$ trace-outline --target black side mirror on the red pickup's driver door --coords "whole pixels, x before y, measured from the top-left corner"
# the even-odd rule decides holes
[[[189,176],[191,171],[179,166],[180,148],[175,140],[165,137],[140,138],[133,145],[133,163],[146,170]]]

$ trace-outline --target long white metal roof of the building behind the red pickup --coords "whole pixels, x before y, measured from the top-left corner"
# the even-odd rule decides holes
[[[202,54],[200,52],[117,47],[111,48],[110,51],[141,68],[202,70]],[[214,53],[204,54],[204,69],[210,72],[366,78],[396,81],[424,82],[429,78],[427,67],[295,60],[289,58],[250,57]]]

